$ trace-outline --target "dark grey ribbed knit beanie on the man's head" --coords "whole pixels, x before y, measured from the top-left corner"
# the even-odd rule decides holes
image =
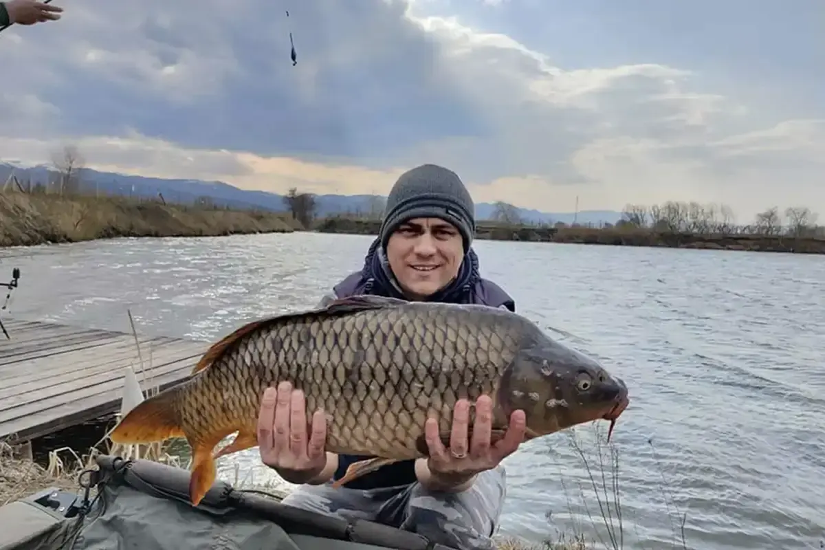
[[[439,218],[458,228],[468,251],[475,235],[475,204],[455,172],[422,164],[404,172],[389,191],[381,223],[381,247],[402,223],[413,218]]]

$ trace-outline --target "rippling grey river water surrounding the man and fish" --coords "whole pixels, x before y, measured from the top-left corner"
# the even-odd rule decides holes
[[[293,233],[120,239],[0,250],[22,270],[12,314],[214,339],[313,307],[361,266],[371,237]],[[825,257],[477,242],[483,275],[521,313],[628,383],[614,433],[625,548],[820,548],[825,538]],[[6,273],[8,271],[8,274]],[[819,413],[817,413],[819,411]],[[602,424],[602,423],[600,423]],[[579,448],[599,471],[593,428]],[[602,430],[603,433],[603,430]],[[257,449],[221,476],[271,475]],[[502,534],[602,522],[571,438],[507,458]],[[614,501],[610,467],[601,501]],[[258,478],[260,480],[260,477]],[[590,519],[592,515],[593,519]],[[548,518],[549,516],[549,518]],[[614,523],[617,523],[614,519]],[[681,542],[677,544],[681,548]]]

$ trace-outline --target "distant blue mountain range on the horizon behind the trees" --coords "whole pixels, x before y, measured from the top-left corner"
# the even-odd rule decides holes
[[[50,185],[58,181],[56,171],[46,166],[21,167],[8,162],[0,162],[0,188],[14,171],[20,181],[31,181],[31,185]],[[172,180],[157,177],[128,176],[113,172],[97,172],[83,168],[82,185],[86,190],[100,190],[107,194],[157,197],[163,195],[169,202],[193,203],[200,197],[208,196],[215,204],[235,208],[259,208],[275,212],[285,211],[284,197],[266,191],[243,190],[230,186],[223,181]],[[383,197],[375,195],[318,195],[318,215],[368,213],[380,209]],[[495,204],[479,203],[475,205],[478,219],[492,219]],[[621,217],[614,210],[583,210],[578,214],[572,212],[540,212],[536,209],[517,209],[521,219],[530,223],[615,223]]]

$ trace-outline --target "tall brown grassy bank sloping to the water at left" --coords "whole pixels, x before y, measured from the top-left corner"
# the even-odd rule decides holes
[[[121,196],[0,193],[0,247],[111,237],[291,233],[289,214],[163,204]]]

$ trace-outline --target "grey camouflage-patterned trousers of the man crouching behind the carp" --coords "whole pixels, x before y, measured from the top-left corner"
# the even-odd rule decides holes
[[[481,472],[473,487],[460,493],[431,492],[420,483],[363,491],[302,485],[283,502],[321,514],[368,519],[459,550],[493,550],[506,477],[502,466]]]

